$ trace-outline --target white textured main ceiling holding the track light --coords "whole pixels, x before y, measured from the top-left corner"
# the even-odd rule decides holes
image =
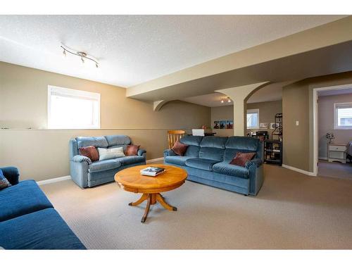
[[[0,61],[130,87],[343,15],[0,15]],[[64,58],[61,42],[99,59]]]

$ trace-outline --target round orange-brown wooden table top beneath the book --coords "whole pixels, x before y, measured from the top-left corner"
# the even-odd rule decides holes
[[[155,177],[141,175],[140,170],[147,167],[165,168],[165,171]],[[120,170],[115,174],[115,182],[118,182],[125,191],[136,193],[159,193],[170,191],[180,187],[186,178],[186,170],[163,164],[138,165],[125,170]]]

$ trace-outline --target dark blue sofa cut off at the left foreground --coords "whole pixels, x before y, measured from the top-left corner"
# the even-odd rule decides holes
[[[0,246],[4,249],[86,249],[34,180],[0,168],[11,187],[0,190]]]

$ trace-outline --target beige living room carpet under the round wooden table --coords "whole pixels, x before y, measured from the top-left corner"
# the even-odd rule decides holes
[[[352,249],[352,181],[275,165],[256,197],[187,181],[164,194],[179,210],[153,206],[145,224],[115,183],[42,189],[88,249]]]

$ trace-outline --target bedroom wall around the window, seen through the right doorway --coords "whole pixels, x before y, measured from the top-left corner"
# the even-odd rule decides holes
[[[352,130],[334,129],[334,103],[350,103],[352,94],[339,94],[334,96],[320,96],[318,104],[318,156],[327,158],[326,134],[334,133],[334,142],[347,144],[352,140]]]

